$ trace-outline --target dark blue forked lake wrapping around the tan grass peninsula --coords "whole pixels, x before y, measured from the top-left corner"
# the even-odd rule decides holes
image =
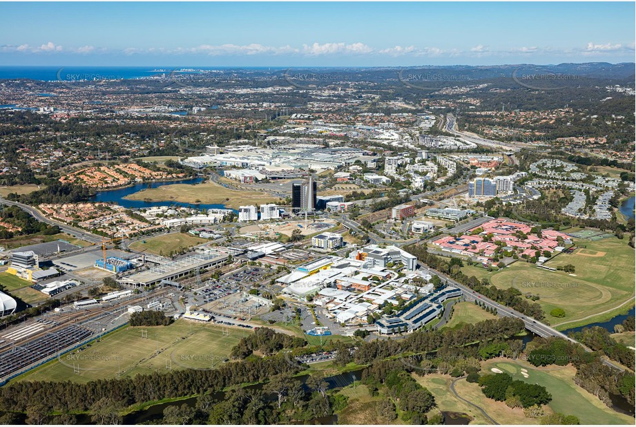
[[[137,193],[137,191],[141,191],[143,189],[149,188],[157,188],[162,185],[170,185],[170,184],[199,184],[203,182],[205,178],[191,178],[189,180],[180,180],[180,181],[162,181],[162,182],[144,182],[142,184],[135,184],[131,187],[124,187],[116,190],[104,190],[98,191],[95,196],[90,198],[91,202],[104,202],[104,203],[112,203],[114,205],[123,206],[127,209],[142,209],[148,207],[155,206],[180,206],[180,207],[190,207],[192,209],[226,209],[225,205],[209,205],[209,204],[200,204],[195,205],[193,203],[183,203],[183,202],[175,202],[174,200],[159,200],[153,202],[145,202],[144,200],[127,200],[125,197],[129,196],[133,193]]]

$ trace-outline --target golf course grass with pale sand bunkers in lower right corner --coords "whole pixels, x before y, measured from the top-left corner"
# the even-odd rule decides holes
[[[491,368],[499,368],[513,379],[544,386],[552,395],[548,408],[565,415],[575,415],[579,417],[581,424],[634,424],[632,417],[608,408],[597,397],[577,386],[573,380],[576,368],[572,366],[534,368],[523,361],[493,359],[483,364],[485,372],[492,373]],[[521,368],[528,370],[527,379],[521,375]],[[497,421],[511,423],[508,419]]]

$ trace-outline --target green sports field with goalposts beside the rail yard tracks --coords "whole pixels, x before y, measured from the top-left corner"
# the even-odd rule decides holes
[[[148,338],[142,338],[142,330]],[[74,381],[134,377],[168,369],[211,369],[224,365],[231,348],[250,332],[230,328],[225,336],[218,325],[180,319],[169,326],[125,327],[90,347],[63,354],[15,381]],[[158,349],[158,352],[157,352]],[[229,362],[228,362],[229,363]],[[75,368],[73,365],[75,364]],[[79,367],[79,374],[76,372]]]

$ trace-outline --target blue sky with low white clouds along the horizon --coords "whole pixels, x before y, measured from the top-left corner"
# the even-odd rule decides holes
[[[0,3],[0,65],[633,62],[635,4]]]

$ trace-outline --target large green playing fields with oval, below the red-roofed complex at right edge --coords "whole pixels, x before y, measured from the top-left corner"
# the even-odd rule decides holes
[[[494,273],[477,267],[463,267],[462,271],[469,276],[488,277],[501,289],[516,287],[523,294],[538,294],[547,320],[560,330],[605,321],[628,309],[634,298],[635,258],[627,240],[612,237],[576,243],[585,245],[585,249],[560,254],[545,264],[555,268],[572,264],[574,275],[539,269],[523,261]],[[619,307],[622,303],[626,305]],[[566,316],[551,317],[549,313],[555,307],[563,308]]]

